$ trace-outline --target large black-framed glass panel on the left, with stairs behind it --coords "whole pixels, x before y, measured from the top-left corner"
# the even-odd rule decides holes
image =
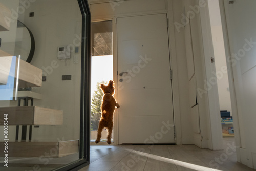
[[[0,170],[89,164],[85,0],[0,0]]]

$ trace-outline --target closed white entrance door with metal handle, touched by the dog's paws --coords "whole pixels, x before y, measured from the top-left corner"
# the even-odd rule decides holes
[[[166,14],[117,18],[118,140],[175,143]]]

